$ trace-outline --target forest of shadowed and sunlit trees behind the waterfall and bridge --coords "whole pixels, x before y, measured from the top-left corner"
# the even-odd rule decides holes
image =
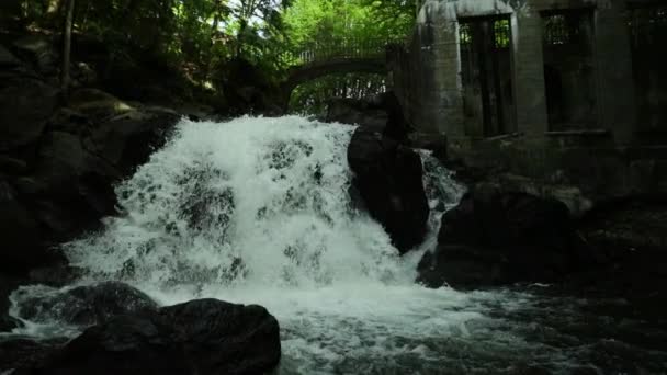
[[[71,69],[92,70],[94,83],[121,99],[196,102],[230,115],[283,111],[280,83],[304,50],[404,39],[415,20],[412,2],[394,0],[8,0],[0,7],[5,41],[48,36],[57,52],[71,21]],[[61,66],[54,64],[60,71],[53,73],[61,76]],[[330,98],[383,90],[382,76],[329,76],[296,88],[291,107],[321,113]]]

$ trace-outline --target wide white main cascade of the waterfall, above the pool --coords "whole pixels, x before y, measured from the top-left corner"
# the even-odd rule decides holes
[[[124,214],[66,253],[95,280],[163,288],[409,284],[388,236],[348,196],[353,129],[296,116],[184,121],[117,188]]]

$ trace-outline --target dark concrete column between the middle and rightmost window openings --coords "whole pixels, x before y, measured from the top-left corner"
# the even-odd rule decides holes
[[[598,1],[595,27],[599,125],[613,133],[617,144],[626,145],[634,137],[636,109],[623,1]]]

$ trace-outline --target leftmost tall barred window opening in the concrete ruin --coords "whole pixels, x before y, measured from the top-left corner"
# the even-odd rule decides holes
[[[512,132],[509,18],[459,20],[459,43],[466,134],[493,137]]]

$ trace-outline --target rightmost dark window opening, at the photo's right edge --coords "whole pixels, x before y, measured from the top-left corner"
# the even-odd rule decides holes
[[[667,132],[667,4],[629,9],[638,128]]]

